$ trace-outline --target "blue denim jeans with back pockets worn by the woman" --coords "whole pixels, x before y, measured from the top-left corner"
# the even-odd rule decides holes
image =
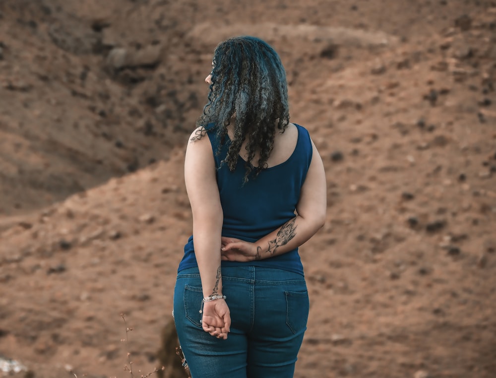
[[[179,272],[174,319],[192,378],[291,378],[307,329],[309,296],[301,274],[254,266],[223,267],[231,311],[227,340],[203,331],[198,268]]]

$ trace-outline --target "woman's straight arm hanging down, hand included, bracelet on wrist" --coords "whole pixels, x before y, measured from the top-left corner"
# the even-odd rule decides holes
[[[222,295],[221,232],[223,212],[215,176],[215,161],[208,135],[200,139],[195,130],[185,157],[185,183],[193,215],[194,254],[200,271],[203,297]],[[198,304],[198,307],[200,304]],[[203,304],[202,327],[219,338],[227,338],[231,325],[223,299]]]

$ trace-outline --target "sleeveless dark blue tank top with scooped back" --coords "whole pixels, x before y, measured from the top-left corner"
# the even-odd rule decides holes
[[[307,129],[300,125],[295,126],[298,128],[298,141],[292,155],[283,163],[262,170],[256,177],[250,177],[244,185],[246,162],[239,156],[234,172],[231,172],[226,164],[221,165],[221,161],[227,156],[231,140],[226,137],[225,143],[220,147],[220,153],[216,154],[220,140],[216,135],[215,126],[206,126],[212,144],[224,213],[222,236],[256,242],[295,217],[300,190],[312,157],[312,145]],[[196,266],[193,236],[190,236],[178,271]],[[303,274],[298,248],[256,261],[222,261],[222,266],[261,266]]]

